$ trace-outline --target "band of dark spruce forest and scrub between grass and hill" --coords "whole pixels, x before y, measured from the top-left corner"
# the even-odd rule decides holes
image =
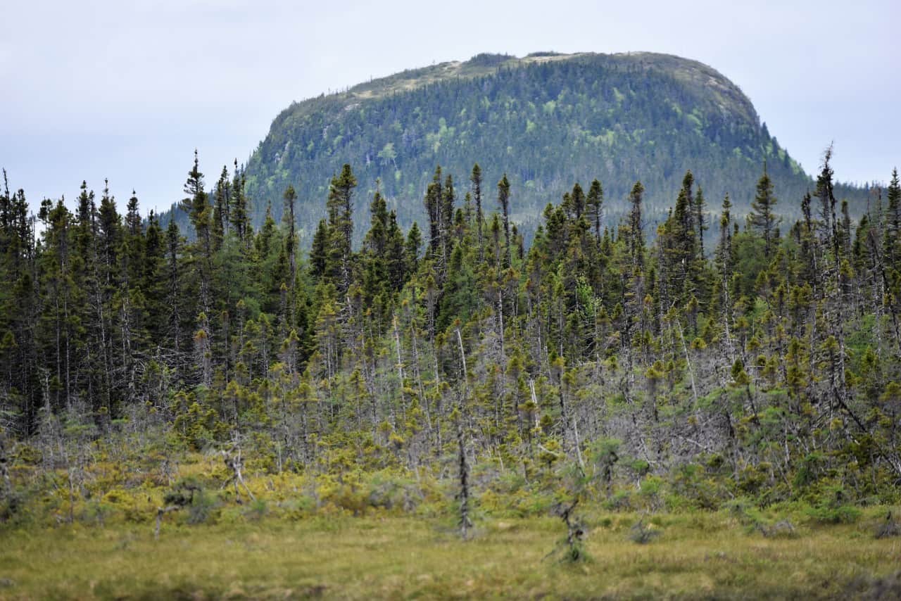
[[[823,520],[896,502],[901,186],[893,173],[855,220],[829,159],[796,221],[769,170],[741,190],[746,222],[682,172],[653,243],[642,182],[614,227],[605,187],[573,182],[526,244],[506,176],[435,170],[404,231],[344,165],[308,258],[294,187],[287,219],[254,229],[241,173],[211,193],[197,160],[191,241],[86,186],[35,223],[6,187],[0,519],[137,515],[141,491],[210,450],[227,470],[208,485],[239,498],[244,469],[279,504],[461,503],[464,530],[470,503],[531,514],[580,495],[793,501]],[[303,489],[272,479],[292,474]],[[166,504],[194,503],[191,482]]]

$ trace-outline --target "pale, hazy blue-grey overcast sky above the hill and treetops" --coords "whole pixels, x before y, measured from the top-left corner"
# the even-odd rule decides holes
[[[842,181],[901,164],[897,0],[5,0],[2,14],[0,167],[32,207],[108,178],[120,206],[134,189],[167,208],[195,149],[212,185],[294,100],[479,52],[700,60],[808,173],[830,142]]]

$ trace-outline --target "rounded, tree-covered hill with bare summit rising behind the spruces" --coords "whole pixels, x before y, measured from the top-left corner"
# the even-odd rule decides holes
[[[608,223],[641,179],[654,223],[689,168],[712,211],[728,192],[741,214],[764,160],[779,211],[796,214],[811,179],[761,125],[741,89],[702,63],[651,53],[482,54],[291,105],[272,123],[247,173],[255,223],[269,202],[278,217],[282,191],[289,183],[297,188],[308,243],[343,163],[354,169],[359,194],[368,196],[379,178],[389,208],[408,225],[423,222],[423,193],[436,165],[467,189],[461,184],[478,161],[489,199],[508,174],[513,219],[528,231],[544,205],[593,178],[604,185]],[[366,219],[365,211],[358,218]]]

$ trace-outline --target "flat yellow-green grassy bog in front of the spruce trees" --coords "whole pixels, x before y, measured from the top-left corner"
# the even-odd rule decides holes
[[[660,515],[629,538],[614,514],[587,534],[586,563],[548,558],[559,520],[492,520],[462,542],[434,521],[316,517],[0,533],[3,598],[835,598],[898,594],[899,539],[865,524],[748,533],[724,514]],[[874,517],[875,519],[875,517]]]

